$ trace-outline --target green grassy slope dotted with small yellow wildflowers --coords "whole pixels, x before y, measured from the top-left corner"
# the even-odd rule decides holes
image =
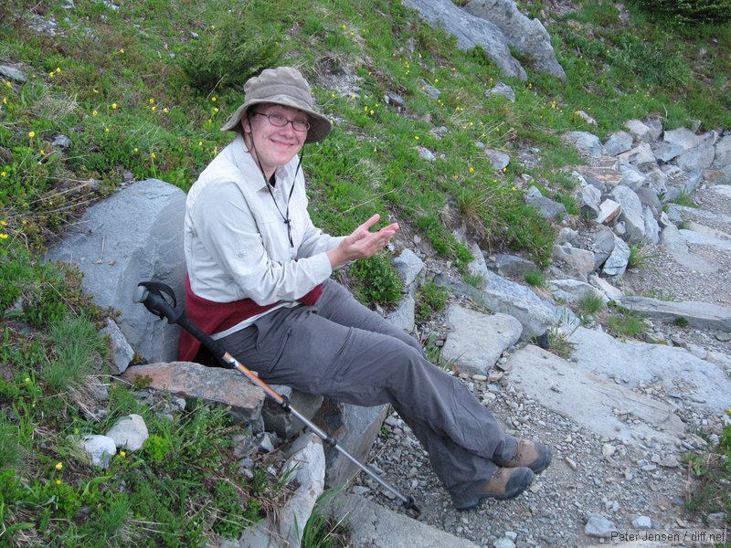
[[[530,16],[545,7],[522,5]],[[481,52],[457,50],[396,2],[119,6],[13,0],[0,7],[0,61],[19,64],[29,78],[0,80],[0,518],[17,528],[0,532],[0,542],[95,545],[146,535],[195,545],[211,528],[237,533],[278,496],[262,477],[228,467],[223,418],[205,408],[169,424],[114,388],[108,416],[79,414],[76,387],[104,371],[103,348],[89,329],[104,312],[85,302],[72,272],[62,276],[35,259],[48,237],[125,174],[187,189],[228,142],[217,128],[267,56],[301,68],[336,121],[332,137],[306,151],[316,221],[343,233],[388,212],[460,268],[469,253],[451,228],[461,225],[485,248],[512,248],[546,264],[553,227],[523,205],[522,175],[571,204],[564,168],[579,159],[561,132],[605,138],[648,115],[670,127],[696,119],[706,129],[731,127],[729,27],[682,34],[631,5],[620,13],[609,2],[588,2],[549,25],[567,84],[535,73],[508,79],[515,103],[485,98],[500,75]],[[55,36],[33,30],[34,19],[56,21]],[[220,69],[234,64],[236,72]],[[358,77],[356,87],[345,85],[346,75]],[[423,92],[424,82],[441,91],[439,100]],[[386,94],[404,98],[405,109],[387,104]],[[53,144],[58,134],[69,136],[68,149]],[[478,142],[513,155],[537,149],[541,161],[530,168],[514,161],[495,173]],[[419,146],[437,160],[420,160]],[[384,264],[374,259],[360,270],[370,280],[359,293],[365,300],[393,294]],[[77,342],[74,352],[62,349],[69,341]],[[102,432],[132,411],[148,420],[154,441],[133,457],[118,455],[102,481],[65,436]]]

